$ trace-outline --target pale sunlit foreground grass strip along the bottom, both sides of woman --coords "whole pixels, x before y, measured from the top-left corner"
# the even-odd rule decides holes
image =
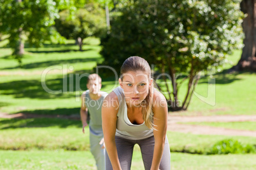
[[[141,170],[139,151],[133,155],[132,167]],[[255,154],[191,155],[171,153],[171,169],[255,169]],[[84,151],[0,151],[0,169],[96,169],[90,152]]]

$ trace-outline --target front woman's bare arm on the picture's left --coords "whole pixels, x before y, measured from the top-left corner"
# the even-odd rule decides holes
[[[113,170],[121,169],[117,155],[117,146],[115,145],[115,132],[117,128],[117,113],[118,113],[118,98],[114,92],[111,92],[103,101],[102,119],[103,119],[103,134],[106,151]]]

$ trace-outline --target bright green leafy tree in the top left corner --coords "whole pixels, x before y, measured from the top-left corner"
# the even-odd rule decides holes
[[[36,47],[51,36],[60,37],[52,27],[58,16],[52,0],[0,0],[0,30],[9,35],[9,46],[19,63],[24,53],[24,37]]]

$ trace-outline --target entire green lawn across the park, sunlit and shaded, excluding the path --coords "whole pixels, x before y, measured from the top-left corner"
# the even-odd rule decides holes
[[[44,44],[35,49],[25,46],[22,68],[11,58],[10,48],[0,42],[0,113],[71,115],[79,119],[80,95],[86,90],[86,75],[103,61],[99,40],[86,39],[83,51],[75,41],[68,44]],[[181,115],[254,115],[255,73],[225,74],[239,60],[241,51],[229,56],[226,64],[210,76],[207,72],[196,88],[188,111]],[[47,71],[48,69],[48,71]],[[100,70],[99,74],[104,72]],[[44,77],[45,76],[45,77]],[[215,82],[208,84],[208,80]],[[44,84],[45,83],[45,84]],[[103,91],[117,86],[115,77],[103,77]],[[208,93],[208,88],[213,93]],[[51,89],[48,93],[46,89]],[[162,87],[164,89],[164,87]],[[215,89],[215,90],[214,90]],[[58,91],[62,92],[58,92]],[[187,87],[180,88],[183,99]],[[170,114],[177,114],[171,112]],[[207,122],[208,124],[208,122]],[[213,125],[214,124],[214,125]],[[203,124],[202,124],[203,125]],[[211,123],[224,128],[253,128],[241,124]],[[254,126],[255,127],[255,126]],[[255,130],[255,128],[254,128]],[[89,152],[89,128],[82,134],[79,120],[58,118],[0,119],[0,169],[96,169]],[[167,132],[172,169],[255,169],[255,154],[196,155],[220,140],[232,138],[255,145],[255,138],[245,136],[196,135]],[[239,160],[239,161],[238,161]],[[143,169],[138,146],[132,169]]]

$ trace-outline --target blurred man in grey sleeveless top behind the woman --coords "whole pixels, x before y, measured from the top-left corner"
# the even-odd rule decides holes
[[[96,166],[98,170],[105,169],[104,156],[104,138],[101,119],[101,107],[104,98],[108,93],[100,91],[101,77],[97,74],[90,74],[87,81],[87,91],[83,92],[82,106],[80,109],[81,121],[83,124],[83,133],[85,133],[85,126],[87,126],[88,110],[90,112],[90,152],[94,155]]]

